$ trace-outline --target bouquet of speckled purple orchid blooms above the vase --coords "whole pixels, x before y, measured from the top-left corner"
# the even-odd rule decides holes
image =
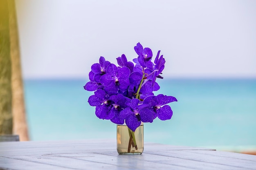
[[[128,62],[124,54],[117,57],[119,66],[99,58],[99,63],[92,64],[89,73],[90,82],[84,89],[95,91],[88,102],[96,106],[95,114],[99,119],[109,119],[115,124],[124,124],[133,132],[141,122],[171,119],[173,111],[168,103],[177,102],[173,96],[154,95],[160,86],[156,79],[163,79],[162,71],[165,60],[158,51],[154,63],[150,48],[143,48],[140,43],[134,47],[138,57]]]

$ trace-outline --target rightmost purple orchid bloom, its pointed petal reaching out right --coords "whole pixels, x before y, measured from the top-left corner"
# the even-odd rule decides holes
[[[155,117],[158,117],[160,120],[171,119],[173,111],[169,105],[166,105],[171,102],[177,102],[177,99],[173,96],[166,96],[159,94],[157,96],[148,96],[144,99],[144,104],[150,104],[152,110],[155,112]],[[161,107],[162,106],[162,107]]]

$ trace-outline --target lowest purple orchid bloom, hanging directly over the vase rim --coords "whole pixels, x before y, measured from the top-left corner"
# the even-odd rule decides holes
[[[142,122],[153,122],[154,113],[149,110],[147,104],[140,104],[139,99],[132,99],[126,102],[127,107],[120,112],[119,117],[125,119],[130,130],[135,131]]]

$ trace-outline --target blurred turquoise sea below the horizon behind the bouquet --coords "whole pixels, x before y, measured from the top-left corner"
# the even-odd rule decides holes
[[[170,120],[144,124],[144,141],[220,150],[256,150],[256,79],[157,79],[157,94],[177,102]],[[25,79],[33,141],[115,139],[116,124],[88,104],[88,79]]]

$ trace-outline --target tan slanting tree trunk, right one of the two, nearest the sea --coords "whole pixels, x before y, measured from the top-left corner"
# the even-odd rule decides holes
[[[12,88],[12,114],[13,134],[20,137],[20,141],[29,140],[25,102],[23,93],[22,71],[20,64],[20,49],[18,38],[18,26],[16,7],[14,0],[8,0],[9,7],[9,33],[11,54],[11,88]]]

